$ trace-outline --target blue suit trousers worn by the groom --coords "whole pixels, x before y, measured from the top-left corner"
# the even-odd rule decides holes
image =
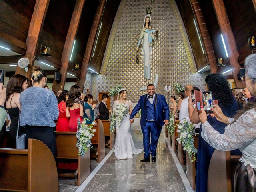
[[[162,126],[159,126],[156,121],[146,121],[145,126],[141,126],[143,134],[144,157],[156,156],[156,148],[158,138],[160,136]],[[151,137],[151,142],[150,142]]]

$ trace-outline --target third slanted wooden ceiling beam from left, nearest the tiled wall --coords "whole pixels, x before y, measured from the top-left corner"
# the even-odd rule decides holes
[[[92,22],[92,28],[90,30],[90,35],[89,35],[89,38],[88,38],[88,41],[86,44],[86,49],[84,52],[84,57],[83,57],[82,66],[81,66],[81,70],[80,70],[81,76],[77,82],[77,85],[80,86],[81,91],[83,91],[83,89],[84,89],[84,81],[86,78],[87,67],[90,62],[90,57],[92,55],[92,49],[94,46],[98,28],[100,26],[100,20],[101,20],[102,14],[103,14],[105,4],[106,4],[106,0],[101,0],[99,2],[96,13],[94,15],[94,20]]]

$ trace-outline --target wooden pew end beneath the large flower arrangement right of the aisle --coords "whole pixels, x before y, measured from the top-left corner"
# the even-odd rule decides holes
[[[198,148],[199,133],[194,136],[194,146]],[[193,158],[193,157],[192,157]],[[193,190],[196,190],[196,162],[191,163],[188,153],[186,153],[187,177]]]

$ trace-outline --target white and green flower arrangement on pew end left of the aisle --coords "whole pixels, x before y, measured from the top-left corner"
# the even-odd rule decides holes
[[[86,124],[86,120],[89,120],[89,119],[84,118],[83,122],[81,123],[80,119],[78,118],[78,122],[77,122],[76,147],[78,147],[79,156],[84,156],[84,154],[90,148],[92,148],[91,139],[94,136],[94,132],[96,132],[96,129],[92,129],[93,125]]]

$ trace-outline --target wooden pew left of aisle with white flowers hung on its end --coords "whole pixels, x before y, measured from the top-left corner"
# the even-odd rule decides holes
[[[56,131],[56,161],[77,162],[78,169],[74,173],[58,172],[59,177],[74,178],[80,186],[90,174],[90,150],[84,156],[78,156],[76,132]]]

